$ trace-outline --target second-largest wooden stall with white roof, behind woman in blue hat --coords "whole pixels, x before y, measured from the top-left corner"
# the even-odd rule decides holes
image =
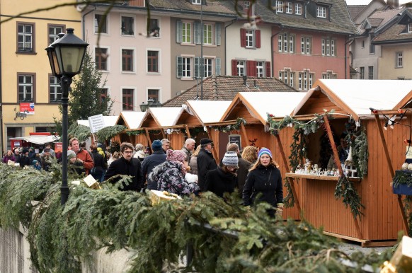
[[[274,136],[268,132],[268,113],[273,117],[285,117],[296,107],[297,102],[302,100],[306,92],[240,92],[231,101],[229,108],[222,116],[220,122],[224,124],[236,124],[243,119],[246,124],[241,123],[238,130],[231,130],[231,134],[239,134],[241,147],[253,145],[258,148],[266,147],[273,153],[273,159],[279,164],[282,178],[290,171],[289,161],[290,143],[293,129],[288,127]],[[285,209],[283,218],[299,219],[301,196],[299,187],[291,180],[294,190],[295,206]],[[284,195],[286,194],[284,189]]]

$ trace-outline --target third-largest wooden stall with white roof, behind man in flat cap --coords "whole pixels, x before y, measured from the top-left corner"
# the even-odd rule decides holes
[[[212,139],[213,156],[219,162],[226,152],[227,142],[224,142],[224,149],[221,149],[220,139],[224,138],[222,132],[212,129],[207,124],[218,122],[230,103],[230,100],[188,100],[183,105],[183,112],[176,117],[173,124],[185,129],[186,136],[195,139],[196,144],[200,144],[200,139],[205,137]]]

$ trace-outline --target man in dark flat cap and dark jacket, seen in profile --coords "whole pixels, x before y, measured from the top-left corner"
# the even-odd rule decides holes
[[[200,190],[206,190],[206,175],[209,170],[217,168],[216,161],[212,155],[213,141],[212,139],[200,139],[200,152],[198,154],[198,185]]]

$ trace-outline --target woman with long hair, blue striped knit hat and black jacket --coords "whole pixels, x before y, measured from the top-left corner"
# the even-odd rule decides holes
[[[273,161],[272,153],[267,148],[259,151],[258,161],[249,170],[242,194],[244,205],[253,204],[258,195],[260,195],[258,201],[272,205],[273,209],[268,210],[270,216],[275,216],[275,212],[278,216],[282,216],[282,175],[277,168],[277,163]]]

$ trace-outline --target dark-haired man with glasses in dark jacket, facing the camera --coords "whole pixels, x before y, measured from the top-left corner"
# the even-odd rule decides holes
[[[110,164],[110,167],[105,174],[105,180],[115,175],[130,175],[132,182],[129,185],[123,183],[123,188],[119,190],[133,190],[139,192],[142,190],[142,166],[137,158],[133,158],[133,145],[128,142],[120,144],[120,152],[122,157],[116,159]],[[114,184],[120,178],[115,178],[111,182]]]

